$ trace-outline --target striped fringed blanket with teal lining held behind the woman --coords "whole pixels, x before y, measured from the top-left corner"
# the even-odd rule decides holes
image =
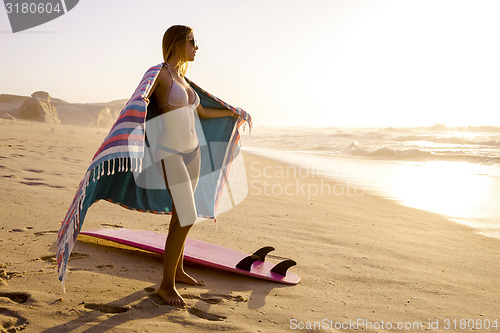
[[[140,179],[154,173],[148,156],[151,147],[147,140],[146,123],[154,106],[145,96],[156,80],[163,64],[146,71],[132,97],[128,100],[109,134],[95,153],[80,182],[73,202],[62,222],[57,236],[57,270],[59,280],[66,280],[66,266],[81,230],[88,208],[103,199],[128,209],[155,214],[171,214],[172,199],[163,188],[141,185]],[[252,125],[250,115],[209,94],[187,80],[200,96],[204,107],[229,109],[240,117],[201,118],[206,144],[201,146],[200,181],[195,201],[200,217],[215,219],[231,162],[239,153],[239,128]],[[156,182],[159,183],[159,182]]]

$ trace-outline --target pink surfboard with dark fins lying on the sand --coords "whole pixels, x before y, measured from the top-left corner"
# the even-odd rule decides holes
[[[167,234],[148,230],[103,228],[80,232],[82,235],[107,239],[116,243],[163,255]],[[184,261],[284,284],[297,284],[300,277],[288,269],[297,263],[286,259],[274,265],[266,261],[266,255],[274,248],[266,246],[253,254],[236,251],[221,245],[187,238]]]

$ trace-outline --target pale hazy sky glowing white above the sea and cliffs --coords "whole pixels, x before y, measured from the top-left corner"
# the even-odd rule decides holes
[[[0,93],[128,98],[173,24],[188,77],[256,126],[500,126],[500,1],[81,0],[13,34],[0,9]]]

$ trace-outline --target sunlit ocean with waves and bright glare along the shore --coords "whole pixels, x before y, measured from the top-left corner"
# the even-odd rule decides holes
[[[242,151],[500,239],[500,127],[257,127]]]

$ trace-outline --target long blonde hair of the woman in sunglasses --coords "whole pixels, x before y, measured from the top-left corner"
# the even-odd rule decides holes
[[[163,35],[163,60],[167,62],[178,51],[177,64],[175,67],[179,68],[179,73],[183,76],[186,75],[188,67],[188,58],[186,54],[186,43],[189,34],[193,29],[185,25],[173,25],[165,31]]]

